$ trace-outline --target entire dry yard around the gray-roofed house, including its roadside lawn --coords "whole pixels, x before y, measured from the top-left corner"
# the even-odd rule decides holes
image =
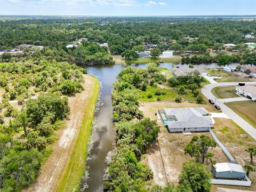
[[[161,130],[158,134],[157,142],[153,143],[144,159],[148,163],[154,173],[154,180],[152,182],[159,185],[165,185],[166,182],[171,182],[174,185],[178,185],[178,175],[182,170],[182,164],[192,160],[189,155],[185,155],[184,148],[194,135],[207,135],[211,137],[210,133],[192,133],[192,135],[183,135],[183,133],[168,133],[166,128],[162,125],[162,122],[157,118],[155,113],[161,108],[171,107],[205,107],[209,111],[213,111],[208,105],[198,105],[193,103],[171,103],[171,102],[143,102],[140,105],[140,109],[146,117],[156,119],[157,123],[161,126]],[[218,139],[225,145],[231,155],[242,166],[245,162],[248,162],[250,157],[246,153],[245,149],[249,146],[256,146],[256,142],[249,136],[244,139],[240,134],[246,134],[246,132],[236,125],[233,121],[226,118],[214,118],[214,133]],[[211,149],[214,154],[214,159],[218,162],[229,162],[228,157],[223,153],[222,149],[217,146]],[[211,165],[206,165],[211,170]],[[241,187],[244,190],[256,189],[256,174],[251,173],[250,179],[252,180],[252,186]],[[254,179],[255,178],[255,179]],[[212,185],[212,191],[216,191],[215,185]],[[218,186],[220,187],[220,186]],[[229,186],[221,186],[229,187]],[[237,188],[233,186],[230,188]]]

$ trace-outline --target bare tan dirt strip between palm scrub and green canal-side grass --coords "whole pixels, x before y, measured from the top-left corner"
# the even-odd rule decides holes
[[[59,140],[53,145],[53,153],[42,166],[33,185],[23,191],[52,192],[56,190],[61,173],[69,162],[70,155],[74,149],[74,143],[82,124],[84,112],[85,110],[90,110],[86,108],[86,105],[94,90],[93,84],[95,83],[95,78],[84,75],[84,80],[83,87],[85,90],[82,93],[77,93],[76,97],[70,97],[68,99],[70,120],[67,121],[67,127],[57,133]]]

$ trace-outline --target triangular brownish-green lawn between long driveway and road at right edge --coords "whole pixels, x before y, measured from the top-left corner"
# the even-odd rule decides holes
[[[241,116],[252,126],[256,126],[256,102],[253,101],[236,101],[225,103],[236,114]]]

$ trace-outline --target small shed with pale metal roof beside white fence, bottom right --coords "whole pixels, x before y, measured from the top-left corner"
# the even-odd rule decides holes
[[[243,167],[235,163],[216,163],[212,172],[215,178],[243,179],[246,175]]]

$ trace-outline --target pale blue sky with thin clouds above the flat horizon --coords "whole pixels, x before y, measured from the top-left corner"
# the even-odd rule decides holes
[[[256,0],[0,0],[0,15],[244,15]]]

